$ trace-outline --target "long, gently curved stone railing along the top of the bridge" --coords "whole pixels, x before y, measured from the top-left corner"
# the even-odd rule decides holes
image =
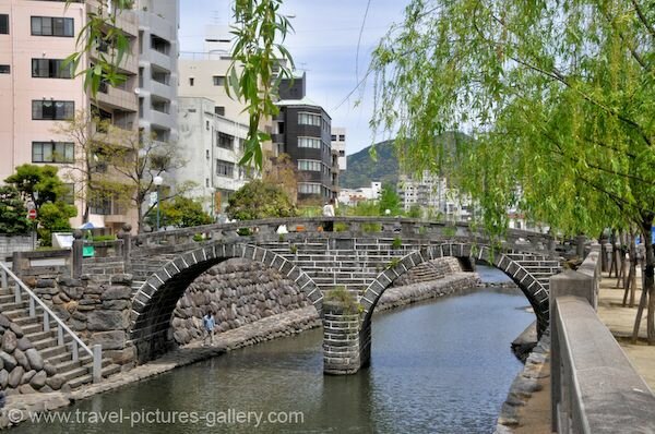
[[[323,231],[326,221],[334,224],[334,231]],[[281,227],[284,227],[284,231],[288,233],[278,233]],[[131,237],[131,250],[158,245],[180,245],[204,240],[236,241],[240,239],[248,242],[249,240],[290,240],[311,237],[347,238],[354,234],[409,238],[425,240],[426,242],[434,239],[466,239],[471,242],[490,244],[488,236],[466,222],[445,224],[393,217],[295,217],[215,224],[140,233]],[[492,244],[497,243],[505,250],[516,249],[546,255],[549,252],[555,253],[557,248],[555,239],[549,234],[514,229],[508,230],[501,239]]]

